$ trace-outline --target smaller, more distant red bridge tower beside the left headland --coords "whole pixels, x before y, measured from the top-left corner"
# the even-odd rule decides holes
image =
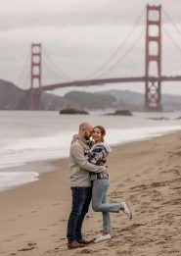
[[[32,43],[29,94],[30,110],[42,109],[41,72],[41,43]],[[34,90],[34,88],[36,88],[36,90]]]

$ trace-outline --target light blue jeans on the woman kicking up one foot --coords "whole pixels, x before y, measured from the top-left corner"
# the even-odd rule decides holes
[[[110,186],[109,179],[96,179],[93,181],[92,187],[92,209],[95,212],[102,212],[103,215],[103,231],[111,231],[110,213],[118,213],[119,204],[107,203],[107,191]]]

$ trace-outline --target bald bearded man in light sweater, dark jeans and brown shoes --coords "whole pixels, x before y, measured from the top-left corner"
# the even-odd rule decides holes
[[[78,135],[82,142],[86,143],[91,137],[93,126],[89,123],[82,123],[79,126]],[[89,172],[106,172],[104,166],[96,166],[87,162],[84,156],[83,147],[76,141],[70,145],[70,187],[72,195],[71,212],[68,218],[68,248],[83,247],[91,241],[82,238],[81,228],[84,217],[88,212],[92,196],[92,187]]]

